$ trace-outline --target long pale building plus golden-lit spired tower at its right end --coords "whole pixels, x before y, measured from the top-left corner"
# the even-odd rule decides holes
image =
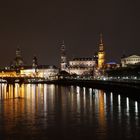
[[[92,58],[74,58],[73,60],[69,61],[68,68],[68,72],[70,74],[101,76],[103,72],[100,70],[105,68],[105,51],[102,41],[102,34],[100,35],[98,53],[95,53]]]

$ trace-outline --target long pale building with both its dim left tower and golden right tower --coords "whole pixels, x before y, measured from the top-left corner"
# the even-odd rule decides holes
[[[102,73],[102,70],[105,67],[105,51],[104,45],[102,41],[102,34],[100,35],[100,43],[99,43],[99,51],[95,53],[95,55],[90,58],[74,58],[69,61],[67,65],[66,61],[66,50],[64,43],[61,44],[61,62],[60,69],[61,71],[67,71],[70,74],[77,75],[93,75],[95,69]]]

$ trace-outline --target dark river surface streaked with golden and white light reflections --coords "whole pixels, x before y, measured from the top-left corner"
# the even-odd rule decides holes
[[[78,86],[1,84],[1,139],[140,139],[140,103]]]

